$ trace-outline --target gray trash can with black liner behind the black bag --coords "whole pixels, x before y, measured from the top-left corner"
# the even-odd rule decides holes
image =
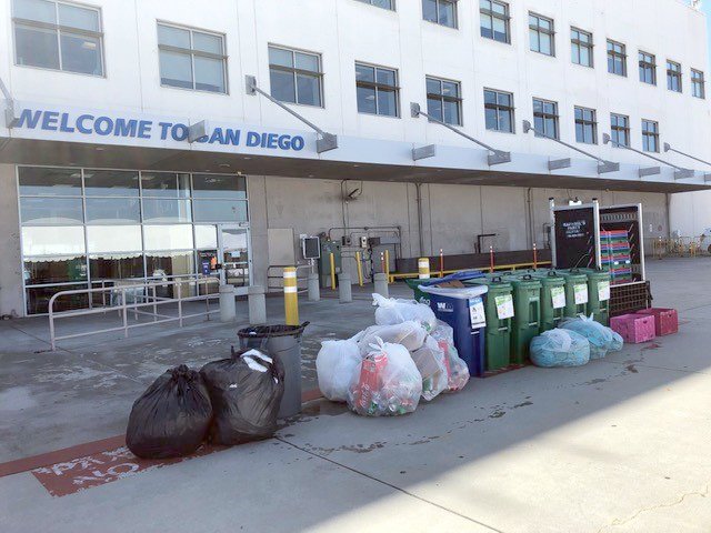
[[[309,325],[257,325],[237,332],[242,350],[263,349],[281,359],[284,365],[284,395],[279,418],[286,419],[301,411],[301,335]]]

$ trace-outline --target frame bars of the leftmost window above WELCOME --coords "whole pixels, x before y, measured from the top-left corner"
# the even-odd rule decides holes
[[[91,4],[86,4],[86,3],[77,3],[77,2],[68,2],[64,0],[47,0],[49,2],[51,2],[52,4],[54,4],[54,17],[57,22],[56,23],[50,23],[50,22],[40,22],[37,20],[31,20],[31,19],[22,19],[20,17],[16,17],[14,16],[14,2],[12,0],[10,0],[10,9],[12,12],[11,16],[11,24],[10,24],[10,32],[12,33],[12,63],[16,67],[21,67],[21,68],[28,68],[28,69],[39,69],[39,70],[47,70],[47,71],[51,71],[51,72],[64,72],[68,74],[77,74],[77,76],[89,76],[91,78],[107,78],[107,60],[106,60],[106,42],[104,42],[104,32],[103,32],[103,13],[101,11],[101,7],[100,6],[91,6]],[[99,28],[101,31],[91,31],[91,30],[84,30],[82,28],[74,28],[72,26],[62,26],[59,23],[59,6],[63,4],[63,6],[69,6],[72,8],[80,8],[80,9],[86,9],[86,10],[90,10],[90,11],[96,11],[97,12],[97,20],[99,21]],[[39,66],[34,66],[34,64],[21,64],[18,62],[18,47],[17,47],[17,38],[16,38],[16,29],[17,29],[17,24],[20,26],[26,26],[26,27],[31,27],[34,29],[39,29],[39,30],[51,30],[57,34],[57,53],[58,53],[58,64],[59,67],[57,69],[52,68],[52,67],[39,67]],[[62,46],[61,46],[61,32],[64,31],[67,33],[74,33],[74,34],[80,34],[80,36],[86,36],[86,37],[92,37],[94,39],[99,40],[99,43],[101,46],[101,53],[99,54],[99,60],[101,61],[101,73],[100,74],[90,74],[87,72],[76,72],[73,70],[64,70],[62,68]]]

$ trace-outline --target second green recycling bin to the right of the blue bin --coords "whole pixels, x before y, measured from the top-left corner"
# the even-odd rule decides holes
[[[513,286],[511,362],[524,364],[531,340],[541,333],[541,281],[530,273],[507,275]]]

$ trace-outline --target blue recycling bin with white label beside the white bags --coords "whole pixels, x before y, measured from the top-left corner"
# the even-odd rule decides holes
[[[430,296],[430,308],[434,315],[454,330],[454,346],[469,366],[469,373],[475,376],[483,375],[487,326],[483,299],[489,288],[421,285],[420,290]]]

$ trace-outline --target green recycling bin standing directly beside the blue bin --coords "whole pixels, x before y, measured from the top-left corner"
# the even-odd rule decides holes
[[[464,281],[464,284],[487,285],[484,301],[487,315],[485,370],[505,369],[511,364],[511,332],[514,316],[513,286],[500,276]]]

